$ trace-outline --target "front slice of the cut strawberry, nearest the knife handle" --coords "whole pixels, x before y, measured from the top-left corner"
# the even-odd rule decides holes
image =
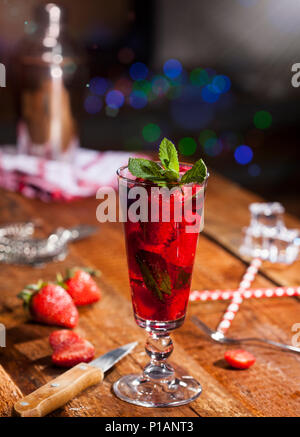
[[[72,367],[79,363],[88,363],[94,358],[95,348],[87,340],[79,339],[54,350],[52,362],[60,367]]]

